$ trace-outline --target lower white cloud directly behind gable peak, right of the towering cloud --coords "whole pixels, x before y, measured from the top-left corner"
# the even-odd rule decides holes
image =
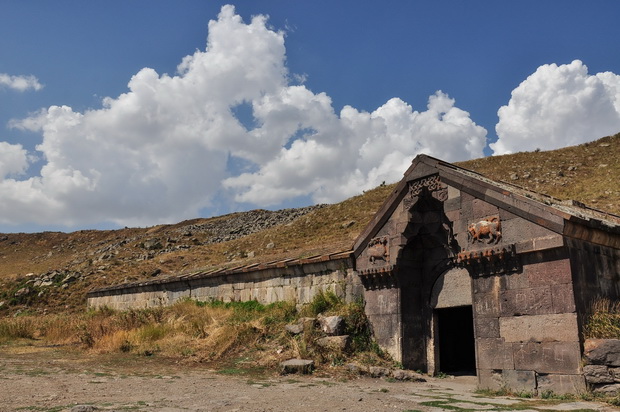
[[[337,116],[327,96],[294,86],[260,102],[255,115],[264,126],[253,134],[271,136],[277,151],[269,152],[258,171],[224,184],[238,192],[238,201],[262,206],[308,194],[316,202],[339,201],[399,180],[419,153],[464,160],[482,156],[486,143],[486,130],[442,92],[429,98],[423,112],[393,98],[372,113],[346,106]],[[278,127],[269,127],[272,123]],[[309,132],[282,147],[304,130]]]

